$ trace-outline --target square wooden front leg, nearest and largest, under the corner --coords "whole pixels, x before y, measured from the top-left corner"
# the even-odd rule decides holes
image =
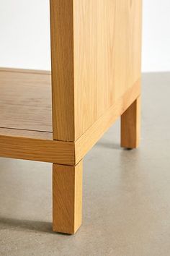
[[[81,226],[82,161],[76,166],[53,163],[53,231],[74,234]]]

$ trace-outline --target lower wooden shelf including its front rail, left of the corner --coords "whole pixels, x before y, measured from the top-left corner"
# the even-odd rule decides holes
[[[0,69],[0,156],[73,165],[74,145],[53,141],[50,72]]]

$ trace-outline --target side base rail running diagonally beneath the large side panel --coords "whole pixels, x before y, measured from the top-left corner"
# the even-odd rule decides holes
[[[109,127],[126,111],[140,95],[140,80],[120,97],[111,108],[102,115],[79,140],[75,142],[76,163],[79,163]]]

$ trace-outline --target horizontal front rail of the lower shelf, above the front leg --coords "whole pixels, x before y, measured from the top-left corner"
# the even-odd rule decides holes
[[[75,163],[75,150],[72,142],[4,135],[0,135],[0,156],[68,165]]]

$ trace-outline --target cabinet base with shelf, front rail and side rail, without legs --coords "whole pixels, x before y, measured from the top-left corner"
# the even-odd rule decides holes
[[[1,156],[75,165],[140,95],[138,80],[76,142],[54,143],[49,77],[22,69],[0,71]]]

